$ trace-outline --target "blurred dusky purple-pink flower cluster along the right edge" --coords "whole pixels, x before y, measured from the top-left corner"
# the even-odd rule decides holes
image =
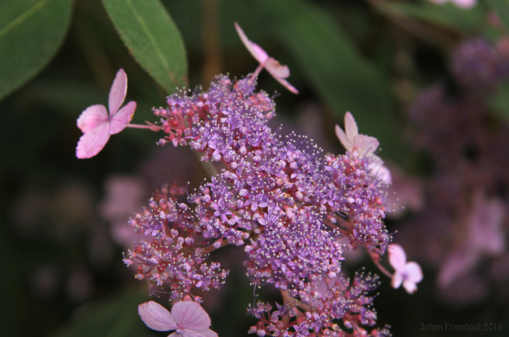
[[[450,67],[456,86],[423,90],[408,111],[410,140],[428,158],[428,201],[399,238],[418,237],[406,244],[438,269],[451,302],[482,300],[490,288],[509,295],[509,125],[488,104],[509,80],[508,47],[506,38],[461,43]]]

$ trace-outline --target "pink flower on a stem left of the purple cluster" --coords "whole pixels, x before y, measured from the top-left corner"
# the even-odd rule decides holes
[[[126,93],[127,75],[120,69],[109,90],[109,115],[104,105],[96,104],[89,106],[78,117],[77,125],[83,135],[76,146],[76,157],[94,157],[106,145],[110,135],[121,132],[129,124],[136,109],[136,102],[131,101],[119,110]]]

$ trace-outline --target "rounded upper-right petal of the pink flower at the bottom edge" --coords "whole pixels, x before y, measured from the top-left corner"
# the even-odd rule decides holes
[[[182,301],[173,305],[172,316],[182,329],[205,330],[210,317],[199,303]]]

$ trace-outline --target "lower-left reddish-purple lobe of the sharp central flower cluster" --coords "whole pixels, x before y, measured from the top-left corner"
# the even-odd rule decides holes
[[[124,262],[137,266],[138,280],[147,280],[158,287],[171,284],[171,298],[176,301],[193,288],[219,289],[229,272],[220,269],[219,263],[203,262],[207,255],[197,240],[199,233],[193,230],[188,207],[177,204],[167,194],[168,189],[162,189],[150,199],[150,209],[130,219],[136,232],[151,234],[154,239],[134,244]]]

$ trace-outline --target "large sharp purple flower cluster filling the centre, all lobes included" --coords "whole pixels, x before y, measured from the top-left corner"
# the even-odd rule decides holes
[[[321,157],[322,150],[306,137],[273,132],[267,122],[275,115],[275,103],[263,91],[256,93],[255,86],[249,77],[218,76],[209,90],[181,91],[168,97],[167,108],[154,109],[167,134],[160,144],[189,145],[202,161],[221,169],[188,195],[191,206],[161,194],[131,219],[138,232],[154,240],[135,245],[126,263],[138,264],[138,278],[171,284],[172,298],[193,287],[219,287],[228,272],[203,263],[206,253],[245,244],[251,284],[274,284],[295,301],[311,303],[310,294],[317,293],[313,289],[322,280],[338,277],[344,259],[340,237],[350,240],[347,249],[360,245],[378,254],[391,241],[382,222],[388,210],[386,185],[372,173],[370,159],[349,152]],[[158,272],[150,271],[154,268]],[[360,279],[366,285],[370,277]],[[297,319],[287,326],[295,331],[287,334],[309,335],[329,327],[352,312],[355,301],[337,297],[326,311],[313,305],[305,314],[313,323]],[[342,305],[345,310],[337,309]],[[363,317],[359,324],[374,324],[376,315],[370,313],[357,312]]]

